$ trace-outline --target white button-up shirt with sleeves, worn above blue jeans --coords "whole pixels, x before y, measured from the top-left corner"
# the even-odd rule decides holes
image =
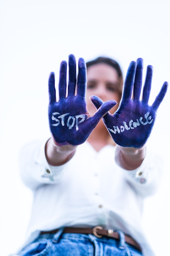
[[[26,243],[40,231],[63,226],[121,230],[134,238],[145,256],[154,256],[141,227],[143,200],[159,183],[161,163],[146,150],[139,168],[126,171],[115,162],[116,146],[99,152],[87,141],[62,166],[46,161],[45,142],[22,148],[21,177],[34,193]]]

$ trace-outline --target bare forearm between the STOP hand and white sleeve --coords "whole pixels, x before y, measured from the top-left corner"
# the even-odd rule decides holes
[[[64,145],[58,146],[52,138],[46,142],[45,155],[47,162],[52,166],[59,166],[68,162],[75,154],[77,146]]]

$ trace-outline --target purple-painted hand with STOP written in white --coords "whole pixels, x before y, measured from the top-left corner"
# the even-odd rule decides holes
[[[91,134],[99,120],[116,105],[116,101],[107,101],[91,116],[86,107],[86,63],[83,58],[78,61],[78,78],[76,61],[73,54],[67,62],[62,61],[59,77],[59,100],[56,101],[55,75],[49,76],[49,126],[57,145],[79,145]],[[67,93],[68,92],[68,93]]]

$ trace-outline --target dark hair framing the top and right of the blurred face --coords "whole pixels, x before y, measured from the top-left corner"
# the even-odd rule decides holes
[[[118,90],[118,92],[120,94],[120,97],[121,97],[122,89],[123,89],[123,74],[122,74],[120,65],[117,63],[117,61],[113,60],[112,58],[108,58],[108,57],[105,57],[105,56],[99,56],[99,57],[95,58],[92,61],[87,61],[86,62],[87,70],[88,70],[88,67],[91,67],[92,65],[97,65],[97,64],[100,64],[100,63],[105,63],[105,64],[113,67],[117,71],[117,74],[119,76],[119,86],[118,86],[117,90]]]

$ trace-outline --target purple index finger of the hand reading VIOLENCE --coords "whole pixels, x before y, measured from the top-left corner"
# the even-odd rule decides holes
[[[135,70],[136,70],[136,62],[131,61],[130,65],[128,67],[128,71],[127,71],[125,82],[124,82],[124,90],[123,90],[123,94],[122,94],[122,99],[130,99],[131,98]]]

